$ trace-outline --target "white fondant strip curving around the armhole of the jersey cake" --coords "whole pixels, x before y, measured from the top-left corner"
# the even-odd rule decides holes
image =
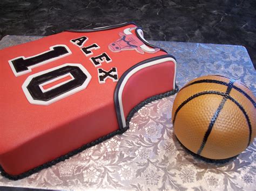
[[[152,62],[144,63],[143,65],[140,65],[140,66],[132,69],[131,72],[125,76],[124,80],[122,81],[122,84],[120,85],[119,92],[118,92],[118,101],[119,101],[120,115],[121,115],[121,118],[122,118],[123,127],[126,126],[125,116],[124,116],[124,108],[123,108],[123,101],[122,101],[122,95],[123,95],[123,90],[124,90],[125,84],[130,79],[130,77],[133,74],[135,74],[136,72],[138,72],[139,70],[144,69],[146,67],[153,66],[153,65],[158,65],[159,63],[163,63],[163,62],[167,62],[167,61],[172,61],[174,63],[174,68],[175,69],[174,69],[174,76],[173,76],[173,88],[175,88],[176,65],[177,65],[177,63],[173,58],[163,58],[163,59],[155,60],[155,61],[152,61]]]

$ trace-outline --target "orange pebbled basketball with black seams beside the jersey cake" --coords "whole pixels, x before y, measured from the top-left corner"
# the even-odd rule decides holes
[[[255,107],[255,96],[244,84],[219,75],[198,77],[181,88],[174,100],[174,133],[202,157],[231,158],[253,142]]]

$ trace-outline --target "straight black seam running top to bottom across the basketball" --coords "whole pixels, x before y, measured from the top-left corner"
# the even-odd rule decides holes
[[[228,83],[228,86],[227,86],[226,94],[230,94],[230,91],[232,89],[232,85],[233,85],[234,82],[235,82],[235,80],[230,79],[230,82]],[[226,103],[226,101],[227,101],[226,97],[223,97],[223,99],[221,100],[221,102],[219,104],[219,107],[217,108],[214,115],[212,116],[211,122],[210,122],[210,124],[207,128],[207,131],[205,132],[203,142],[201,143],[201,146],[200,146],[199,150],[197,151],[197,154],[201,154],[201,152],[203,151],[203,149],[205,147],[205,144],[207,142],[207,139],[210,136],[210,133],[212,131],[212,128],[213,128],[213,126],[214,126],[214,124],[215,124],[215,122],[216,122],[216,120],[219,116],[220,111],[223,109],[224,104]]]

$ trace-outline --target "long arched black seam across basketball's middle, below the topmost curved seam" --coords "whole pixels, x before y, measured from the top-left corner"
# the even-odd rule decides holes
[[[206,94],[215,94],[215,95],[221,95],[221,96],[224,96],[226,97],[228,100],[231,100],[232,102],[234,102],[238,108],[242,111],[242,114],[244,114],[245,118],[246,118],[246,121],[247,121],[247,124],[248,124],[248,128],[249,128],[249,140],[248,140],[248,144],[247,146],[250,145],[250,142],[251,142],[251,137],[252,137],[252,125],[251,125],[251,121],[250,121],[250,118],[248,117],[245,109],[242,107],[242,105],[240,103],[238,103],[237,101],[234,100],[233,97],[231,97],[230,95],[227,95],[226,93],[223,93],[223,92],[220,92],[220,91],[202,91],[198,94],[194,94],[192,95],[191,97],[187,98],[187,100],[185,100],[183,103],[181,103],[179,105],[179,107],[177,108],[177,110],[175,111],[174,113],[174,116],[173,116],[173,128],[174,128],[174,123],[175,123],[175,120],[176,120],[176,116],[179,112],[179,110],[189,101],[193,100],[194,98],[196,97],[199,97],[201,95],[206,95]]]

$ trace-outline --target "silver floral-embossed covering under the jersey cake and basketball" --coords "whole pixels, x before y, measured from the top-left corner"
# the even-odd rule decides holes
[[[6,36],[0,48],[41,37]],[[231,45],[151,41],[178,61],[177,84],[207,74],[230,76],[256,94],[255,76],[246,48]],[[130,129],[28,178],[12,181],[0,175],[0,186],[48,189],[255,190],[256,140],[224,165],[195,159],[174,137],[174,96],[145,105]]]

